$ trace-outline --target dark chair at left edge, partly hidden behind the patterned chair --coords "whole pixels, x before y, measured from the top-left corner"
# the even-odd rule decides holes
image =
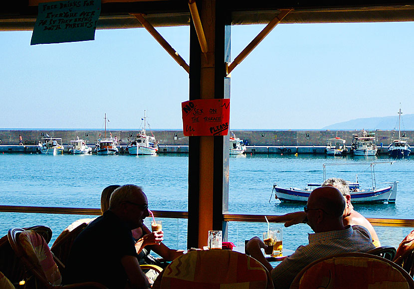
[[[42,235],[47,243],[52,238],[52,230],[48,227],[33,226],[25,229],[36,231]],[[24,267],[14,254],[14,251],[8,242],[7,235],[0,238],[0,271],[12,284],[14,284],[14,286],[20,281],[27,282],[30,278],[30,274],[25,272]]]

